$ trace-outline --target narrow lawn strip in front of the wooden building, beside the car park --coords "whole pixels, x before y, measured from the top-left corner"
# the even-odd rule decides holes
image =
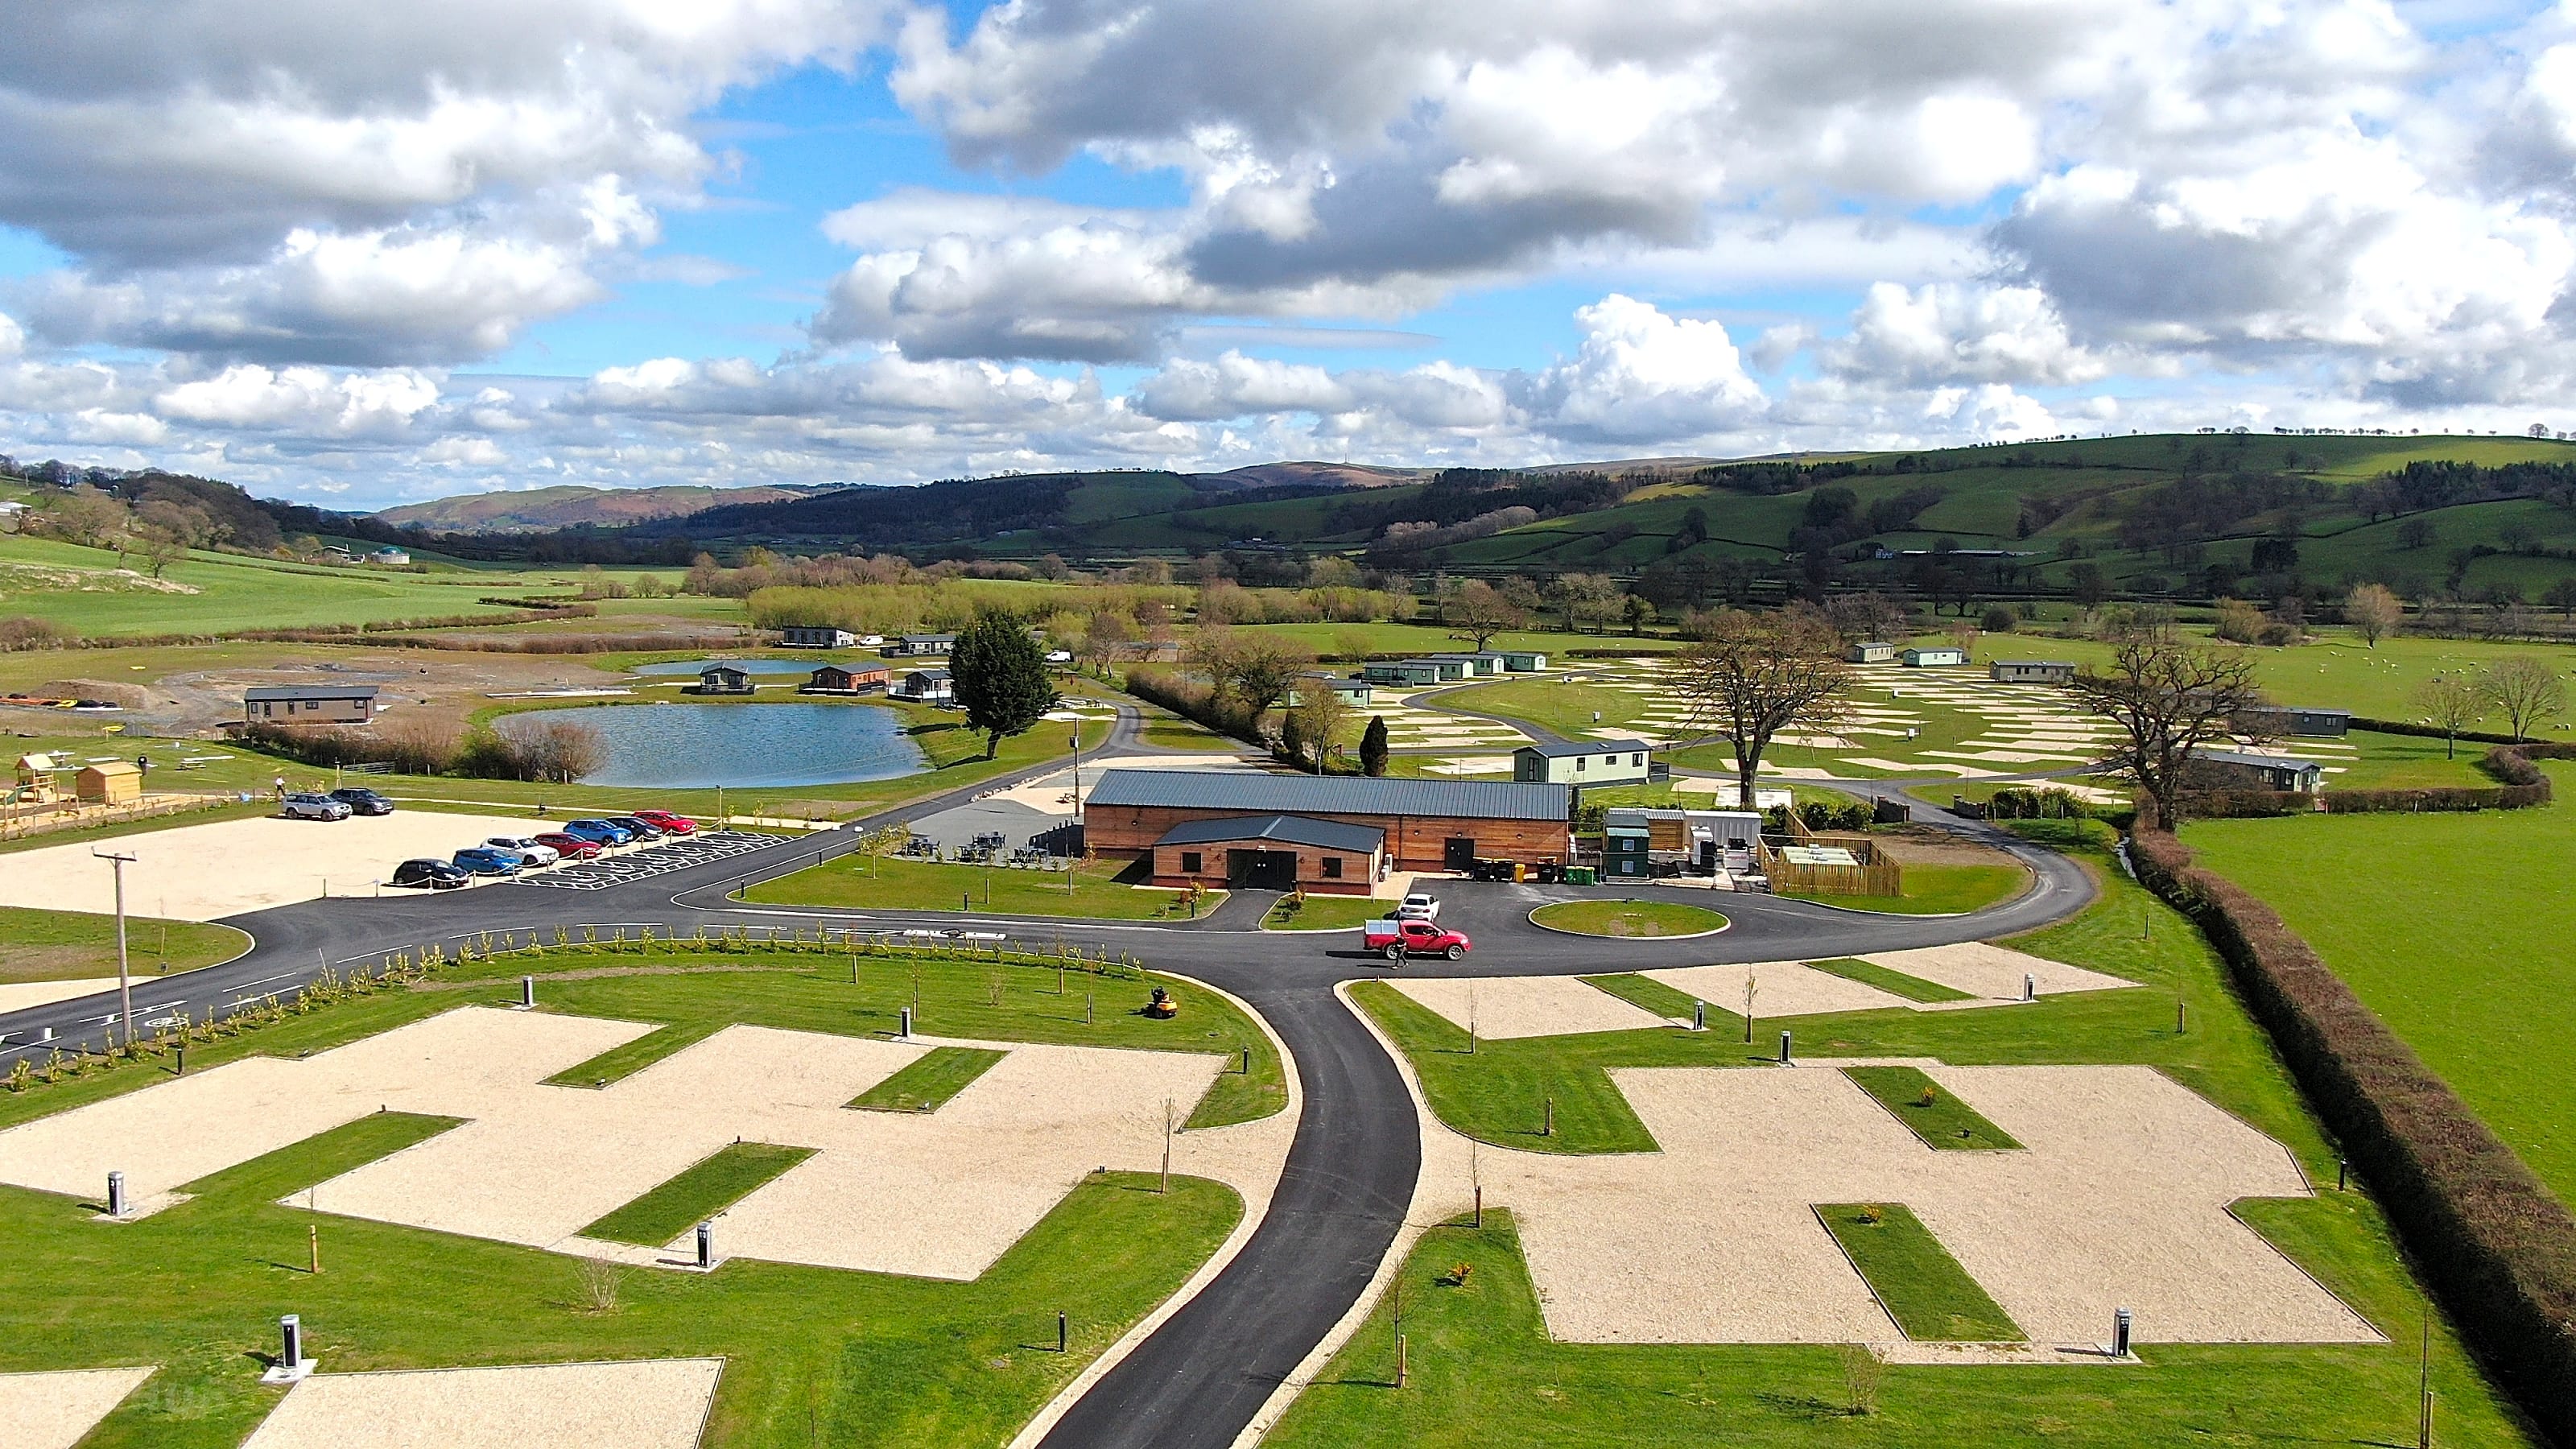
[[[1066,890],[1072,874],[1072,890]],[[1123,879],[1126,877],[1126,879]],[[899,856],[840,856],[755,884],[744,900],[832,910],[989,910],[997,915],[1066,915],[1090,920],[1175,920],[1190,915],[1190,892],[1139,887],[1133,861],[1082,861],[1072,871],[1015,871]],[[1208,892],[1198,910],[1216,910]],[[963,905],[961,905],[963,902]]]

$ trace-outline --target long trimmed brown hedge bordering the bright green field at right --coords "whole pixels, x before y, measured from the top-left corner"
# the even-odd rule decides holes
[[[2169,833],[2138,879],[2200,923],[2496,1379],[2576,1444],[2576,1220],[2282,918]],[[2388,1328],[2388,1325],[2383,1325]]]

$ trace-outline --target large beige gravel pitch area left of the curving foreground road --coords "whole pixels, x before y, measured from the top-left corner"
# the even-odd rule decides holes
[[[1092,1168],[1154,1171],[1164,1104],[1188,1116],[1224,1067],[1195,1052],[992,1044],[1007,1052],[938,1111],[845,1104],[933,1042],[729,1026],[608,1088],[544,1085],[652,1026],[459,1008],[286,1062],[250,1057],[0,1132],[0,1181],[98,1196],[126,1173],[131,1212],[376,1109],[466,1119],[415,1147],[296,1191],[317,1207],[469,1238],[667,1263],[670,1250],[580,1230],[729,1142],[814,1147],[734,1204],[719,1253],[824,1269],[974,1279]],[[1262,1124],[1249,1124],[1262,1127]],[[1193,1132],[1190,1171],[1252,1196],[1278,1132]]]

